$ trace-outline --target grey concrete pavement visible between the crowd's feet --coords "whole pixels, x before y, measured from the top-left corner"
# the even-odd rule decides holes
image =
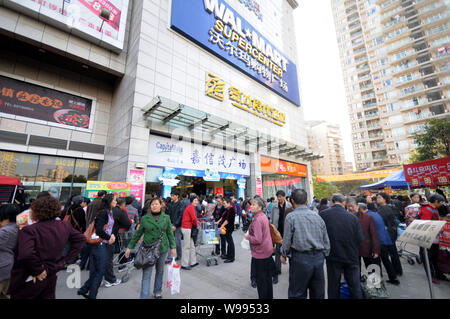
[[[181,270],[181,292],[171,295],[165,288],[167,268],[164,272],[163,298],[164,299],[256,299],[258,293],[250,286],[250,260],[249,250],[241,247],[243,239],[242,230],[233,233],[236,247],[236,260],[234,263],[224,264],[219,258],[219,265],[206,266],[202,257],[198,257],[199,266],[192,270]],[[408,246],[408,250],[418,252],[417,247]],[[212,247],[202,248],[202,251],[210,253]],[[391,299],[428,299],[429,289],[423,265],[409,265],[405,258],[401,258],[404,275],[399,278],[401,284],[393,286],[386,284]],[[326,267],[325,267],[326,268]],[[282,265],[282,274],[278,284],[273,286],[275,299],[287,299],[289,265]],[[383,270],[383,273],[385,271]],[[88,276],[88,271],[82,271],[83,284]],[[58,275],[56,289],[57,299],[83,299],[76,294],[76,289],[69,289],[66,279],[69,273],[61,271]],[[121,277],[119,274],[118,278]],[[136,299],[139,298],[141,288],[141,270],[133,270],[128,282],[110,288],[100,287],[98,299]],[[325,276],[326,277],[326,276]],[[152,289],[154,271],[152,274]],[[441,281],[439,285],[433,284],[437,299],[450,298],[450,283]],[[152,291],[153,292],[153,291]]]

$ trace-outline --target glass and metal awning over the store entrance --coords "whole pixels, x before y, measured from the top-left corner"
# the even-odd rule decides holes
[[[289,143],[281,138],[250,129],[242,124],[223,119],[218,116],[194,109],[157,96],[142,108],[144,118],[152,121],[152,129],[161,126],[170,131],[183,128],[191,131],[192,136],[209,141],[214,136],[222,137],[227,143],[234,145],[254,146],[267,153],[278,150],[280,155],[311,161],[323,155],[304,146]],[[228,145],[228,144],[227,144]]]

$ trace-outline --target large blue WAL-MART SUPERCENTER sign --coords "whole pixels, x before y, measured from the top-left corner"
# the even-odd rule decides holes
[[[297,67],[222,0],[172,0],[171,28],[300,106]]]

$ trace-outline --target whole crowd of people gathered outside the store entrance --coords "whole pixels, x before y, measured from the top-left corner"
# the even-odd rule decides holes
[[[138,243],[158,243],[156,262],[142,269],[140,298],[162,298],[164,266],[175,262],[183,271],[198,266],[197,239],[201,223],[214,223],[219,243],[211,252],[224,263],[236,258],[233,233],[242,224],[251,250],[250,281],[261,299],[273,298],[282,264],[289,261],[288,297],[340,298],[342,275],[353,298],[363,298],[362,266],[384,266],[387,283],[399,285],[403,276],[397,251],[399,223],[415,219],[450,221],[447,198],[441,191],[411,196],[344,196],[314,198],[304,190],[290,196],[280,190],[275,198],[197,196],[173,190],[170,198],[153,195],[143,205],[133,196],[117,197],[99,191],[92,201],[73,196],[64,205],[41,192],[30,207],[0,206],[0,296],[12,299],[52,299],[58,272],[78,263],[89,278],[77,291],[96,299],[105,287],[121,283],[113,257],[122,253],[132,261]],[[428,250],[432,281],[448,280],[450,228]],[[277,234],[282,238],[275,241]],[[424,258],[423,249],[420,256]],[[324,265],[326,264],[326,274]],[[425,268],[426,270],[426,268]],[[383,272],[381,270],[381,275]]]

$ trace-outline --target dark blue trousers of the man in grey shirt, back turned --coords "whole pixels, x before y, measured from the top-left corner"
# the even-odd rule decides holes
[[[325,299],[325,274],[323,252],[292,252],[289,259],[289,299]]]

